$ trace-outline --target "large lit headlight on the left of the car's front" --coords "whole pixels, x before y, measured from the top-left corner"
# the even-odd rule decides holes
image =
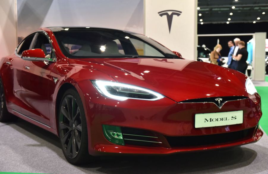
[[[164,98],[163,95],[157,92],[130,84],[102,80],[91,82],[102,95],[116,100],[127,100],[130,98],[138,100],[159,100]]]

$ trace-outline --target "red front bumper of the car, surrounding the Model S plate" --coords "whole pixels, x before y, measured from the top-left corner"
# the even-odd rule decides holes
[[[229,101],[222,108],[218,108],[214,103],[176,103],[169,98],[157,101],[133,99],[119,101],[105,98],[98,92],[91,92],[96,91],[91,82],[82,86],[86,87],[81,91],[84,91],[82,95],[87,116],[89,153],[94,156],[104,153],[170,154],[240,146],[254,143],[263,135],[258,128],[262,114],[260,103],[256,104],[249,98]],[[259,98],[258,95],[255,97]],[[238,110],[243,111],[242,124],[204,128],[194,126],[195,114]],[[116,145],[105,138],[103,125],[121,127],[122,130],[129,128],[137,132],[141,130],[147,132],[146,136],[155,135],[152,137],[157,137],[158,140],[153,141],[161,143],[125,141],[124,146]],[[208,141],[215,138],[218,140]],[[203,140],[205,143],[202,143]]]

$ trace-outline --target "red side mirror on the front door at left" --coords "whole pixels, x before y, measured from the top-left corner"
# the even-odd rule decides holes
[[[21,58],[31,61],[54,61],[53,59],[46,58],[44,51],[40,48],[23,51]]]

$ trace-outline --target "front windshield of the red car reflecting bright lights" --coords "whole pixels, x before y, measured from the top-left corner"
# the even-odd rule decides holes
[[[53,33],[68,58],[178,58],[171,50],[141,34],[93,28],[69,28]]]

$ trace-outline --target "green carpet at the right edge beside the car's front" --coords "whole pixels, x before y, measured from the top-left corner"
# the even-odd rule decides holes
[[[265,77],[268,81],[268,76]],[[258,94],[261,96],[262,117],[260,121],[261,128],[268,134],[268,87],[256,87]]]

